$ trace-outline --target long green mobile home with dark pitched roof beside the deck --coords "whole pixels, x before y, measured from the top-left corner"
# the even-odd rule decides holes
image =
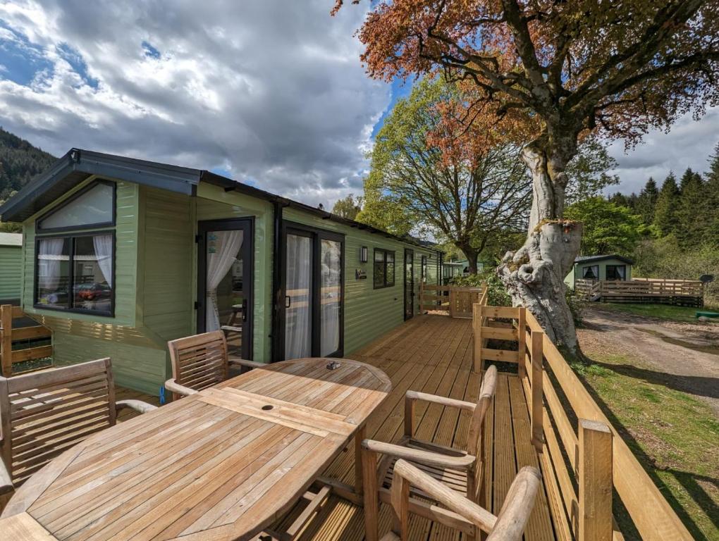
[[[223,328],[246,359],[351,356],[418,313],[440,252],[213,172],[71,149],[0,208],[55,364],[109,356],[157,394],[167,341]]]

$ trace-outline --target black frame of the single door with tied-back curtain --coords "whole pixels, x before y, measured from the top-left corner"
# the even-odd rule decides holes
[[[242,317],[242,357],[252,360],[252,343],[254,342],[254,304],[255,299],[255,217],[229,218],[226,220],[202,220],[197,222],[197,301],[195,310],[197,314],[197,332],[203,333],[206,329],[205,293],[207,284],[207,233],[209,231],[234,231],[242,229],[242,294],[247,300],[247,309],[243,310]],[[249,261],[249,264],[244,264]],[[244,284],[249,284],[245,292]],[[249,339],[245,339],[248,336]]]

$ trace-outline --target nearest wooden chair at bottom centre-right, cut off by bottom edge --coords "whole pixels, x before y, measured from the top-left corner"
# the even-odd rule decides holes
[[[404,460],[395,463],[395,476],[390,489],[393,512],[392,531],[382,541],[406,541],[409,539],[409,513],[412,487],[428,494],[434,501],[448,509],[435,517],[437,522],[449,527],[459,527],[467,536],[477,539],[480,532],[489,534],[487,541],[520,541],[527,524],[534,499],[539,490],[541,476],[537,468],[525,466],[512,481],[499,515],[459,496],[457,492],[441,484],[434,477]]]

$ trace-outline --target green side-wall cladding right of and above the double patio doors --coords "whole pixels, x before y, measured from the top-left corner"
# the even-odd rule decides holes
[[[359,231],[357,228],[345,226],[342,223],[323,220],[318,216],[305,213],[296,208],[285,208],[283,218],[288,221],[303,223],[327,231],[344,233],[344,354],[352,356],[354,351],[362,348],[367,343],[387,333],[388,330],[400,325],[404,321],[404,289],[403,289],[403,261],[404,249],[411,248],[415,252],[416,264],[414,274],[416,276],[415,295],[419,294],[419,272],[421,256],[424,254],[435,263],[436,279],[436,258],[437,254],[429,250],[423,250],[418,246],[406,244],[396,239]],[[359,253],[362,246],[369,250],[369,262],[360,263]],[[382,248],[395,252],[395,285],[375,290],[372,280],[372,259],[374,249]],[[355,271],[363,270],[367,273],[367,279],[356,279]],[[430,282],[436,283],[436,282]],[[415,309],[418,310],[418,302],[415,300]]]

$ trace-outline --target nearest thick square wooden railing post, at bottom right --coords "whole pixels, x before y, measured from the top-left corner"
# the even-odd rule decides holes
[[[579,541],[610,541],[612,433],[603,422],[579,420]]]

